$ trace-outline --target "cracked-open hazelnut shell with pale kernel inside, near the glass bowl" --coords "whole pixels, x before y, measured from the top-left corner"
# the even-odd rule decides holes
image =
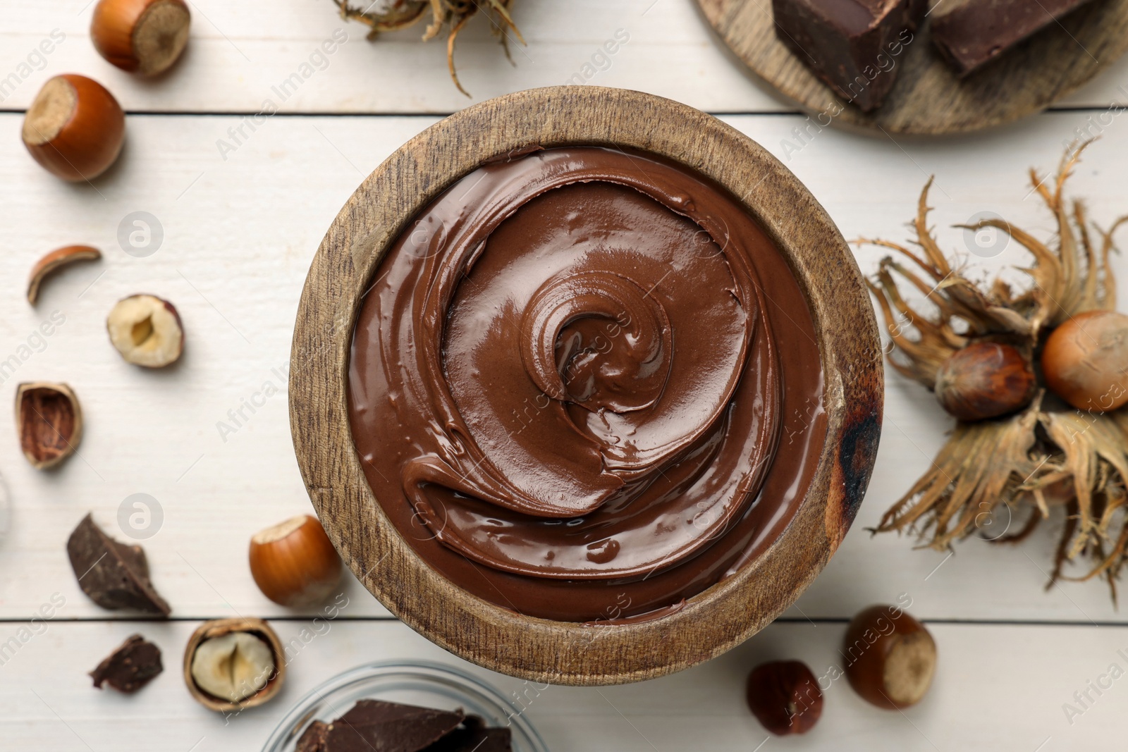
[[[184,651],[188,692],[218,713],[266,702],[277,695],[284,679],[282,643],[262,619],[206,621]]]

